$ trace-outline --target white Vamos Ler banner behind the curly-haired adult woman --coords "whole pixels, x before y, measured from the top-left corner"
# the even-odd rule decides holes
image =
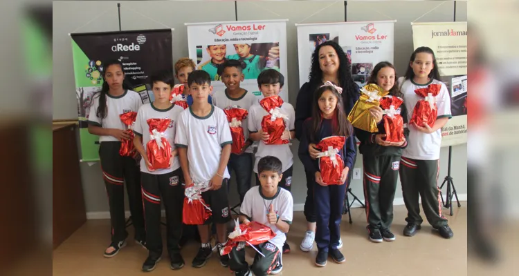
[[[352,77],[359,87],[367,83],[376,63],[393,63],[394,20],[295,24],[298,28],[299,83],[309,80],[311,55],[320,43],[332,40],[343,48]]]

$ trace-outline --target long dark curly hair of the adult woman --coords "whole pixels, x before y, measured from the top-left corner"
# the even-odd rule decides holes
[[[309,81],[316,85],[316,83],[322,83],[322,70],[319,66],[319,50],[321,47],[331,46],[337,52],[339,58],[339,70],[337,71],[339,86],[343,88],[343,93],[346,95],[354,95],[358,91],[358,86],[352,79],[352,64],[349,63],[348,57],[346,57],[343,48],[334,41],[326,41],[316,47],[316,50],[312,54],[312,65],[310,69]]]

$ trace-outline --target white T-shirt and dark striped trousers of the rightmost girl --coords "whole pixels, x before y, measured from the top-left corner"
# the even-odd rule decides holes
[[[420,85],[403,77],[399,85],[403,93],[403,103],[407,109],[407,119],[412,117],[412,111],[417,102],[422,99],[415,90],[426,88],[431,83],[441,84],[436,96],[437,119],[452,117],[450,114],[450,95],[447,87],[441,81],[432,79],[429,83]],[[439,152],[441,147],[441,129],[433,133],[424,133],[409,126],[409,144],[402,152],[400,166],[400,181],[402,183],[403,200],[408,209],[408,223],[420,225],[419,196],[427,220],[434,228],[447,225],[447,219],[441,214],[440,190],[438,187]]]

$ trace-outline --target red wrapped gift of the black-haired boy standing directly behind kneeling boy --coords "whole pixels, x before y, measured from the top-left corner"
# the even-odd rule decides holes
[[[284,130],[286,129],[285,119],[289,117],[281,112],[281,106],[283,99],[280,96],[265,97],[260,101],[262,108],[268,112],[262,119],[262,130],[270,135],[267,141],[264,141],[267,145],[282,145],[289,144],[289,140],[282,140]]]

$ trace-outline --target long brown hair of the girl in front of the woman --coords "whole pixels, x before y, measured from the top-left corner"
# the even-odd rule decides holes
[[[349,137],[352,135],[352,124],[349,123],[344,112],[343,97],[333,86],[321,86],[313,93],[312,103],[312,124],[310,129],[310,139],[312,141],[319,141],[319,130],[322,124],[322,111],[319,108],[319,98],[325,91],[331,91],[337,97],[337,106],[334,110],[334,115],[331,118],[334,127],[334,135]]]

